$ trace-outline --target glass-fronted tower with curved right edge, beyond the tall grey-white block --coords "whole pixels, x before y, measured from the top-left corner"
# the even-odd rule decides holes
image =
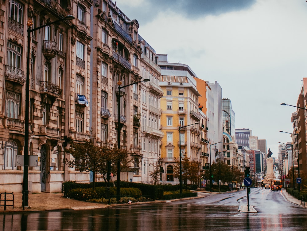
[[[232,110],[230,99],[223,99],[223,124],[229,135],[235,136],[235,112]]]

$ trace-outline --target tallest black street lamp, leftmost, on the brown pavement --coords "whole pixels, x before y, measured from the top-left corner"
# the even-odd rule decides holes
[[[28,26],[28,47],[27,47],[27,73],[26,73],[26,85],[25,85],[25,150],[24,150],[24,169],[23,169],[23,188],[22,188],[22,206],[23,209],[25,206],[29,206],[29,95],[30,95],[30,40],[31,33],[33,31],[39,30],[46,26],[50,26],[52,24],[64,21],[64,20],[72,20],[75,17],[73,15],[67,15],[65,18],[58,19],[54,22],[49,22],[45,25],[38,26],[36,28],[31,29],[33,25],[33,21],[29,20],[27,23]]]

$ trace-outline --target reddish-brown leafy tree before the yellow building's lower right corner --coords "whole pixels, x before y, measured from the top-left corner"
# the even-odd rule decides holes
[[[180,175],[180,161],[175,158],[175,168],[174,168],[174,177],[179,178]],[[191,183],[197,183],[200,176],[200,163],[196,161],[190,161],[188,158],[187,153],[183,155],[181,158],[181,172],[182,172],[182,179],[185,181],[185,184],[188,184],[188,180]]]

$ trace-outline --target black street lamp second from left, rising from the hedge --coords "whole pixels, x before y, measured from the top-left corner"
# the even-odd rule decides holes
[[[140,82],[148,82],[150,81],[150,79],[143,79],[141,81],[138,81],[138,82],[134,82],[134,83],[130,83],[128,85],[125,85],[125,86],[120,86],[122,84],[122,81],[118,81],[117,82],[117,85],[118,85],[118,95],[117,95],[117,148],[120,149],[120,130],[121,130],[121,127],[120,127],[120,90],[122,88],[125,88],[127,86],[131,86],[131,85],[134,85],[134,84],[137,84],[137,83],[140,83]],[[116,189],[116,197],[117,197],[117,200],[120,200],[120,158],[117,159],[117,189]]]

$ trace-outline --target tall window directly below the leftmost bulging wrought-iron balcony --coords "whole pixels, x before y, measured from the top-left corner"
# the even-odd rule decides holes
[[[5,115],[8,118],[18,119],[19,116],[20,95],[6,91],[5,97]]]

